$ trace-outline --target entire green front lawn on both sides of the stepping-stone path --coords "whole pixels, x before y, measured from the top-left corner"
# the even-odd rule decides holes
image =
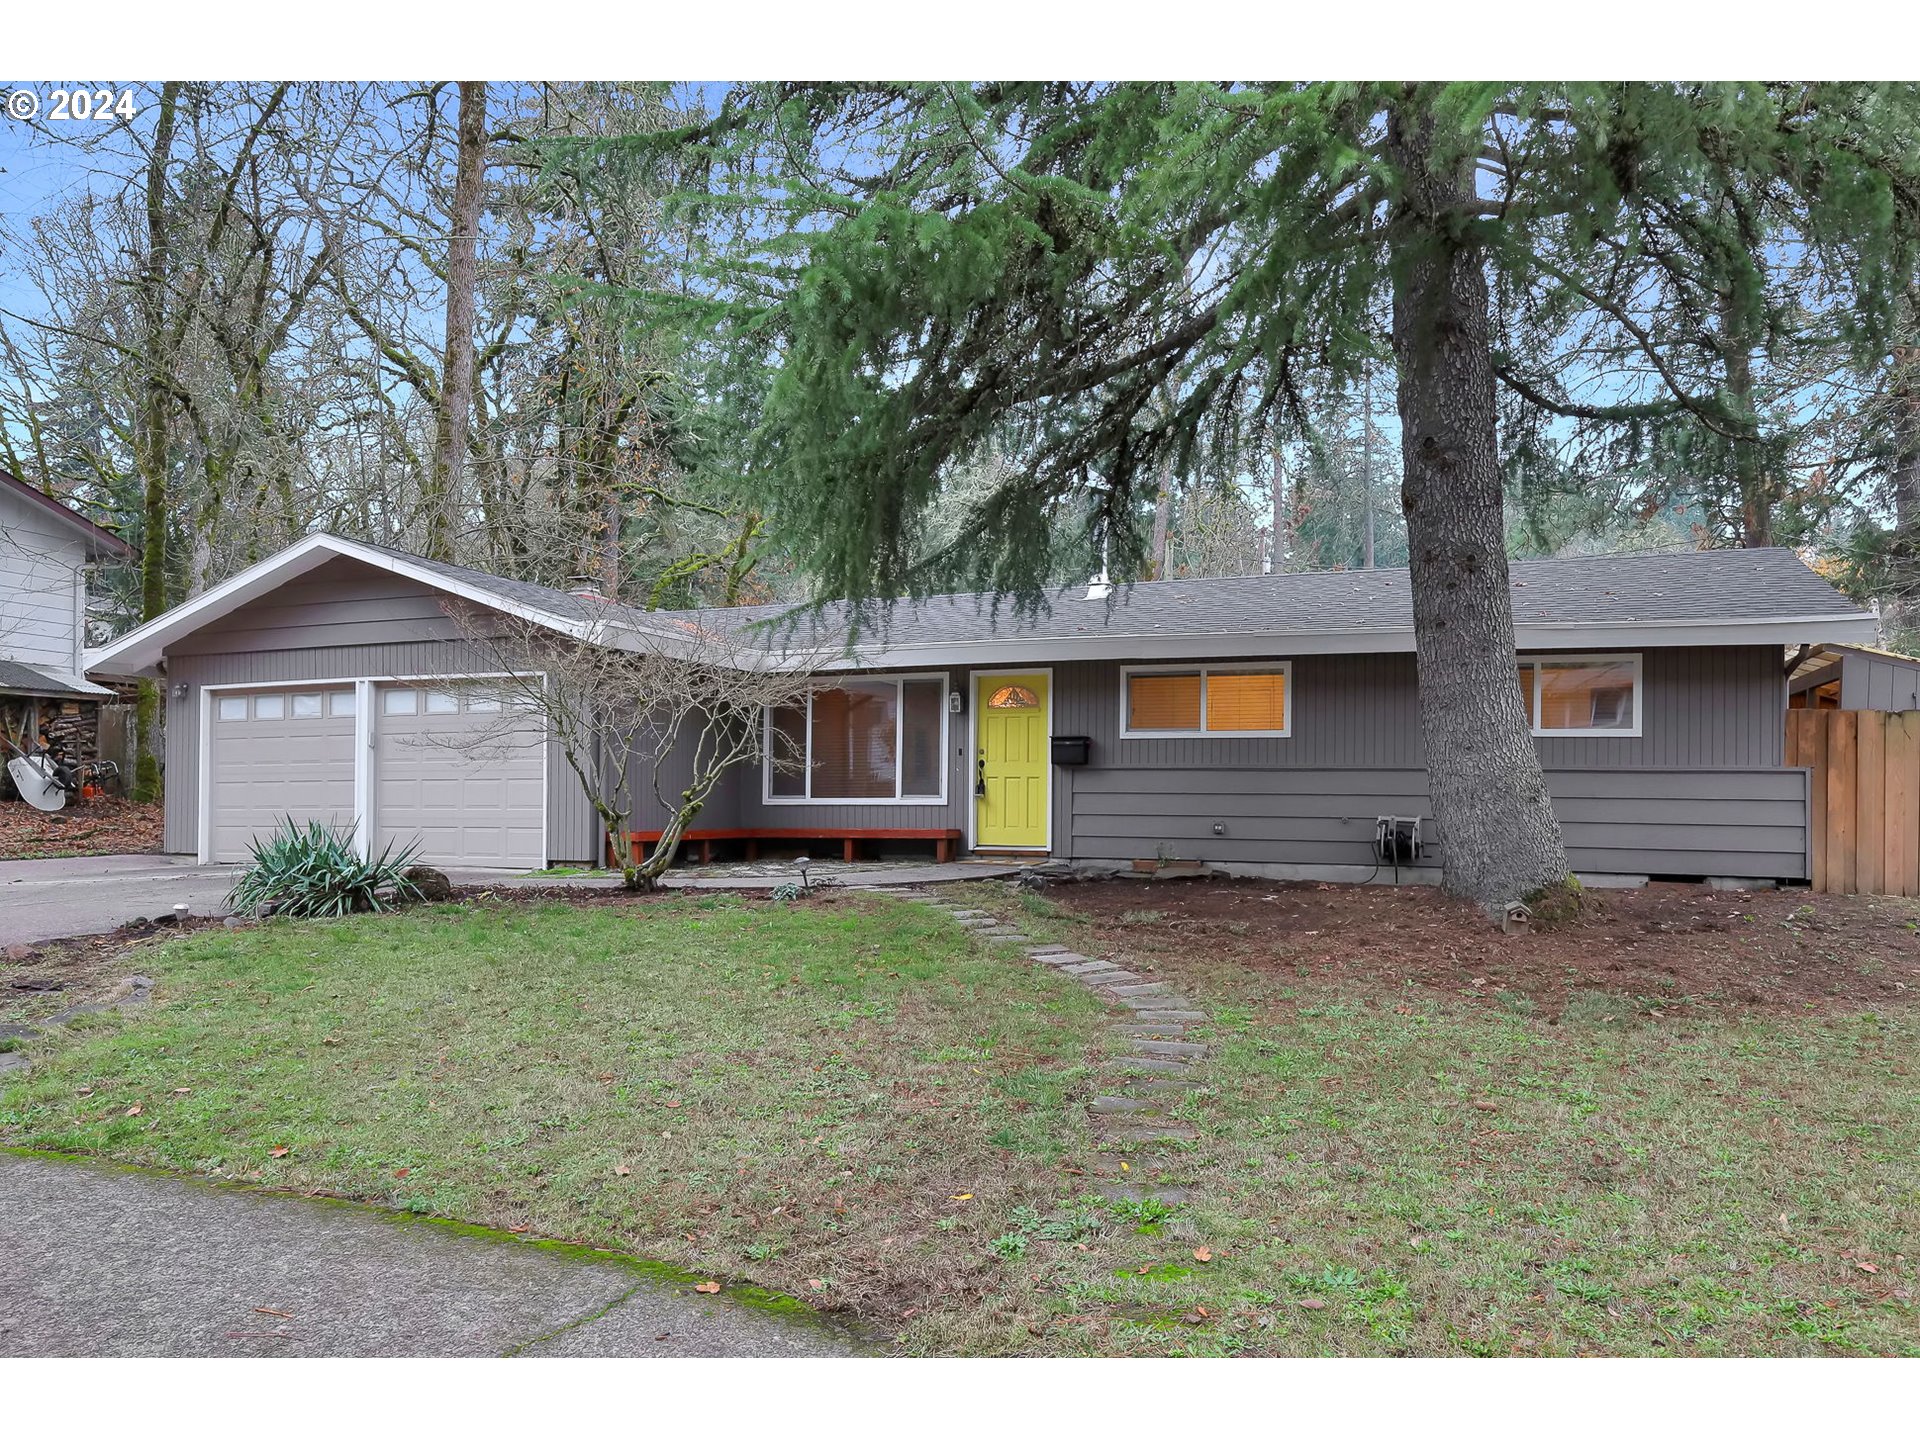
[[[1165,1213],[1087,1194],[1098,1004],[852,895],[179,941],[0,1140],[634,1250],[908,1352],[1920,1354],[1912,1012],[1549,1023],[1192,950],[1140,960],[1217,1018],[1200,1140],[1129,1154],[1198,1187]]]

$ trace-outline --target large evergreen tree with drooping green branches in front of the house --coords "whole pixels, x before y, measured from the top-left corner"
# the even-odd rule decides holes
[[[682,140],[732,244],[697,305],[772,367],[755,455],[829,589],[1031,597],[1069,497],[1116,555],[1164,468],[1252,455],[1302,374],[1352,386],[1392,313],[1421,722],[1446,883],[1567,876],[1513,685],[1492,290],[1678,205],[1711,161],[1845,236],[1857,323],[1905,265],[1908,88],[1745,84],[751,86]],[[1903,132],[1910,136],[1910,129]],[[1524,396],[1523,396],[1524,397]],[[1526,397],[1542,403],[1551,397]],[[1605,420],[1634,420],[1622,405]],[[962,541],[914,518],[1018,436]]]

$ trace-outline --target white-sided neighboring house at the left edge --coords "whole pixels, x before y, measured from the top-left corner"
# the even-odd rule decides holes
[[[0,724],[15,737],[42,726],[90,755],[98,703],[86,680],[86,570],[132,547],[0,470]]]

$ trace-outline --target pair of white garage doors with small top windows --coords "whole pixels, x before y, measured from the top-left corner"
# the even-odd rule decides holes
[[[363,697],[372,710],[365,722]],[[543,866],[540,716],[499,707],[476,685],[384,682],[209,695],[205,856],[248,860],[253,839],[288,818],[351,831],[365,795],[374,854],[392,843],[415,845],[419,860],[438,866]],[[463,743],[474,737],[478,745]]]

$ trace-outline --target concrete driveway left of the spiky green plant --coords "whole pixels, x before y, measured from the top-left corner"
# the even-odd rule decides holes
[[[77,860],[0,860],[0,947],[104,935],[186,902],[225,914],[232,868],[182,854],[94,854]]]

